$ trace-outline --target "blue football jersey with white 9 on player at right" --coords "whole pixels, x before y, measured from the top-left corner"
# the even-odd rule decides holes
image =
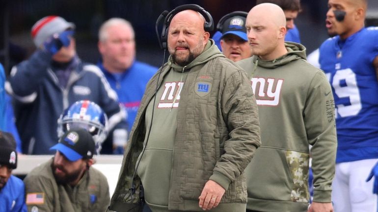
[[[378,158],[378,27],[346,40],[327,39],[319,63],[332,86],[336,109],[336,163]],[[327,95],[327,94],[324,94]]]

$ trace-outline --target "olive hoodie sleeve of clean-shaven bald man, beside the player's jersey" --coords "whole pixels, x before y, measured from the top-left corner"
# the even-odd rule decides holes
[[[312,145],[313,201],[331,202],[337,139],[333,95],[322,71],[314,76],[307,93],[304,122],[308,142]]]

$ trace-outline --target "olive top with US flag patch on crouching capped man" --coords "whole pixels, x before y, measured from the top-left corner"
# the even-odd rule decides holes
[[[54,158],[35,167],[24,179],[29,212],[104,212],[110,201],[107,178],[89,167],[76,186],[58,184]]]

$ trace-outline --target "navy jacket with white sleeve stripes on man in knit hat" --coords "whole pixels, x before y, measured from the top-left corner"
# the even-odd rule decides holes
[[[66,88],[59,86],[48,52],[37,50],[27,61],[13,67],[5,87],[14,99],[23,153],[51,154],[49,148],[58,141],[57,119],[64,109],[82,99],[97,103],[105,111],[109,129],[127,129],[126,112],[103,73],[95,65],[77,60]],[[109,139],[103,143],[102,153],[112,152]]]

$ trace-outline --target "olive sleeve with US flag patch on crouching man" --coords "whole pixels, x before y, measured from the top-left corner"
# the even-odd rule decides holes
[[[31,175],[24,179],[24,184],[27,211],[54,212],[54,188],[48,178]]]

